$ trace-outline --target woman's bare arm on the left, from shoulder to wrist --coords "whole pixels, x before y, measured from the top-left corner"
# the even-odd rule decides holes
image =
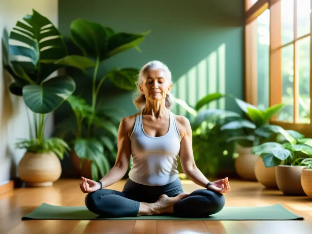
[[[133,128],[133,125],[133,116],[125,117],[119,124],[117,158],[114,167],[111,168],[102,179],[100,179],[103,184],[103,188],[121,180],[129,168],[131,150],[128,133]]]

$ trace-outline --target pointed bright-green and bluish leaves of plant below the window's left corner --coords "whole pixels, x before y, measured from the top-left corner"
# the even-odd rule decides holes
[[[289,133],[280,126],[269,124],[270,119],[284,108],[284,104],[260,110],[238,98],[234,98],[234,100],[246,114],[246,119],[233,120],[221,127],[221,130],[241,131],[240,134],[227,139],[228,142],[237,141],[242,146],[251,147],[270,141],[271,137],[275,137],[277,134],[282,134],[289,141],[293,140],[290,135],[292,132]]]

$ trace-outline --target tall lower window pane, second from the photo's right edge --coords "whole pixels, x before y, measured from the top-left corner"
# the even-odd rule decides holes
[[[274,69],[274,68],[272,68]],[[278,120],[294,121],[294,44],[282,48],[282,102],[285,108]],[[272,87],[274,88],[274,87]]]

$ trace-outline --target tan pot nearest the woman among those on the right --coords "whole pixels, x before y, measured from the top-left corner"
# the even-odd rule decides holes
[[[255,165],[258,159],[258,156],[251,154],[252,147],[243,147],[236,145],[236,151],[239,154],[238,158],[235,159],[235,170],[236,173],[243,180],[257,181],[255,175]]]

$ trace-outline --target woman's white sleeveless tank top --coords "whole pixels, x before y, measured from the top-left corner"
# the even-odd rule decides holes
[[[169,110],[168,132],[160,137],[151,137],[144,132],[142,112],[138,112],[130,136],[133,165],[129,179],[144,185],[166,185],[178,178],[181,136],[176,120]]]

